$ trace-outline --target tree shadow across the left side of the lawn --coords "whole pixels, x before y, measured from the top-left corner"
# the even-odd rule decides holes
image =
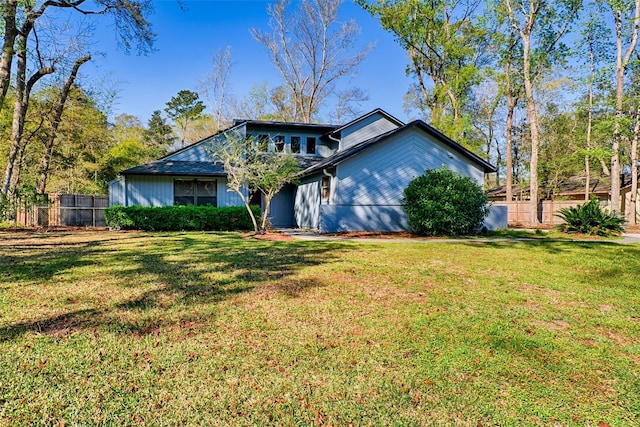
[[[5,326],[0,328],[0,342],[29,331],[66,334],[99,329],[143,335],[170,326],[183,327],[197,323],[199,317],[210,316],[189,307],[215,304],[256,287],[260,292],[295,298],[308,289],[323,286],[317,279],[296,277],[296,272],[331,262],[342,246],[339,242],[261,241],[237,234],[141,233],[117,239],[110,239],[107,234],[104,240],[43,245],[9,255],[0,251],[0,269],[9,270],[8,274],[0,274],[0,282],[55,286],[55,276],[65,270],[95,265],[100,270],[98,277],[109,275],[108,286],[147,289],[132,299],[114,297],[112,303],[98,301],[92,308]],[[92,280],[91,275],[88,273],[88,280]],[[187,307],[190,314],[162,314],[173,307]],[[159,311],[141,315],[153,309]]]

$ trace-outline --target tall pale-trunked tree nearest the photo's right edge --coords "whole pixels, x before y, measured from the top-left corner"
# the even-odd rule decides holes
[[[605,0],[613,14],[616,41],[616,122],[611,150],[611,209],[620,210],[620,146],[624,116],[624,83],[629,61],[638,44],[640,0]],[[625,46],[626,41],[626,46]]]

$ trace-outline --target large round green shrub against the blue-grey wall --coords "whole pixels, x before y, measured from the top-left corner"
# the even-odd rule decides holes
[[[427,236],[475,233],[487,216],[487,196],[471,178],[447,168],[414,178],[402,199],[409,227]]]

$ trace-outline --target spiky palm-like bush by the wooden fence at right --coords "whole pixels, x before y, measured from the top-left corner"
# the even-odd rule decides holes
[[[616,212],[607,212],[597,200],[589,200],[583,205],[560,209],[557,217],[565,223],[558,229],[565,233],[611,236],[624,231],[624,217]]]

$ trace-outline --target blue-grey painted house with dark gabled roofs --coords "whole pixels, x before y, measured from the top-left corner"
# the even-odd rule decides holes
[[[274,227],[406,230],[403,191],[426,169],[446,165],[479,184],[496,171],[428,124],[405,124],[381,109],[344,125],[236,120],[229,129],[122,171],[109,184],[110,205],[241,205],[238,195],[227,191],[224,168],[207,148],[229,132],[268,141],[269,150],[300,159],[300,183],[286,186],[272,200]],[[506,213],[497,214],[488,227],[506,226]]]

